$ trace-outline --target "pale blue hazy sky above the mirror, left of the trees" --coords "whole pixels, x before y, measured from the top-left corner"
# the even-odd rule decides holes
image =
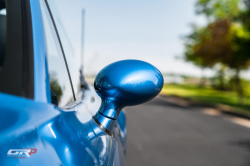
[[[81,50],[81,10],[84,21],[84,72],[96,74],[106,65],[138,59],[162,73],[200,76],[201,69],[185,62],[183,36],[191,23],[205,25],[195,14],[196,0],[52,0],[74,54]],[[211,76],[212,71],[203,71]]]

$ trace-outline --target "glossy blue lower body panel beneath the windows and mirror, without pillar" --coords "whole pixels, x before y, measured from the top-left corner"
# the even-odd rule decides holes
[[[125,165],[117,138],[106,134],[84,110],[0,94],[0,165]],[[78,113],[89,116],[82,123]],[[9,149],[36,148],[30,158],[7,157]]]

